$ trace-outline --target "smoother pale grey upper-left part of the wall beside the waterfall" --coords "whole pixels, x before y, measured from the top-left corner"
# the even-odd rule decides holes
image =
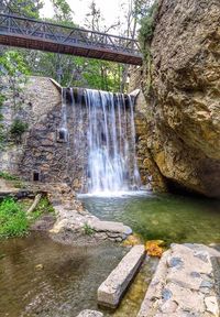
[[[52,84],[50,78],[30,77],[25,87],[21,87],[22,92],[20,99],[22,107],[18,111],[18,117],[29,124],[29,130],[40,120],[44,120],[47,112],[56,105],[61,105],[61,94]],[[7,96],[3,105],[3,124],[9,129],[13,121],[12,97]],[[2,151],[0,151],[0,170],[8,171],[12,174],[19,174],[19,165],[23,156],[23,151],[26,145],[29,132],[24,133],[21,143],[9,142]]]

